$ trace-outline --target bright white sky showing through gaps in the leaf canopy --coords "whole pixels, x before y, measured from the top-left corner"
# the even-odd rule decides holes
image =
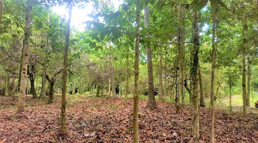
[[[118,6],[122,4],[122,1],[119,0],[111,0],[111,4],[114,5],[115,9],[118,9]],[[61,16],[66,15],[68,17],[66,6],[56,6],[53,7],[53,12],[59,14]],[[77,30],[83,31],[85,30],[85,24],[82,24],[84,21],[92,20],[92,18],[88,17],[87,14],[90,14],[93,10],[93,7],[88,4],[84,9],[79,9],[78,7],[73,7],[72,9],[72,17],[71,17],[71,26],[75,26]]]

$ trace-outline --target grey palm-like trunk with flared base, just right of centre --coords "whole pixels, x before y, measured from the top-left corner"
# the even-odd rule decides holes
[[[144,8],[144,24],[145,28],[149,28],[150,25],[150,17],[149,17],[149,6]],[[146,33],[146,39],[150,38],[150,35]],[[152,67],[152,55],[150,42],[147,40],[146,42],[146,54],[147,54],[147,70],[148,70],[148,103],[147,108],[153,109],[156,108],[156,100],[154,96],[154,81],[153,81],[153,67]]]

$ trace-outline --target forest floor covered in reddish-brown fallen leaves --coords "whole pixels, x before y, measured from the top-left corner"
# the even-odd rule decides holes
[[[124,142],[133,138],[133,100],[110,100],[96,97],[68,97],[66,110],[67,134],[60,128],[61,99],[46,104],[44,99],[26,98],[26,111],[16,114],[16,101],[0,96],[0,143],[15,142]],[[139,101],[139,140],[144,142],[209,142],[210,110],[200,108],[200,139],[191,137],[192,108],[182,107],[175,114],[173,103],[157,103],[158,109],[145,109],[146,100]],[[217,105],[215,111],[216,142],[258,142],[258,108],[242,107],[233,112]]]

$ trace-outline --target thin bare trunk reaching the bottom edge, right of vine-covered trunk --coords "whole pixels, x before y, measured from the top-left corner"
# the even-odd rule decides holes
[[[212,56],[211,56],[211,121],[210,121],[210,142],[214,143],[214,75],[215,75],[215,14],[212,16]]]

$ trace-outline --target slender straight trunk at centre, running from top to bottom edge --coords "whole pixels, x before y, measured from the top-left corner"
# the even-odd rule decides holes
[[[136,4],[136,42],[135,42],[135,61],[134,61],[134,96],[133,96],[133,142],[139,143],[138,132],[138,102],[139,102],[139,54],[140,54],[140,0]]]

